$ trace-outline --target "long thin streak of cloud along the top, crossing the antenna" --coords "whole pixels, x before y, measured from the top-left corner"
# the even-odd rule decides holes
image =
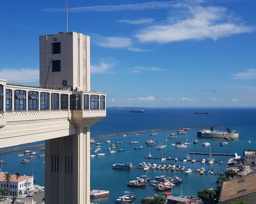
[[[92,7],[74,7],[69,8],[69,12],[115,12],[115,11],[141,11],[153,9],[169,9],[179,5],[190,5],[204,2],[203,0],[174,0],[169,2],[147,2],[139,4],[122,4],[111,6],[92,6]],[[65,12],[65,8],[43,9],[43,11]]]

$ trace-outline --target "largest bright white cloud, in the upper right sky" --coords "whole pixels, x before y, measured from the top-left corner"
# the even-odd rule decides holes
[[[235,16],[227,14],[224,7],[185,7],[179,18],[169,18],[142,29],[135,36],[141,42],[169,43],[181,40],[217,40],[234,34],[248,33],[252,27],[236,21]]]

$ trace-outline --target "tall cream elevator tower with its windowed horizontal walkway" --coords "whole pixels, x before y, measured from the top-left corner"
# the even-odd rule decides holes
[[[45,140],[45,202],[90,203],[90,127],[106,116],[106,93],[90,87],[90,37],[39,41],[40,85],[0,79],[0,148]]]

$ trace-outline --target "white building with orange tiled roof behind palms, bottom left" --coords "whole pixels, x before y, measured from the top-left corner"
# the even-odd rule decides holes
[[[9,195],[18,196],[19,190],[22,190],[23,193],[29,193],[34,189],[33,176],[22,175],[17,180],[15,174],[10,175],[10,182],[7,183],[5,181],[5,173],[0,172],[0,189],[7,189],[9,191]]]

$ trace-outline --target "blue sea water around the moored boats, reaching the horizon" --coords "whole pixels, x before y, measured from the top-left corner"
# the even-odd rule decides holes
[[[92,199],[97,203],[115,203],[115,199],[121,196],[123,191],[133,191],[137,195],[135,203],[140,203],[141,198],[145,196],[152,196],[159,194],[149,184],[146,187],[132,188],[127,187],[127,182],[136,179],[137,176],[148,175],[154,178],[159,175],[174,176],[178,175],[183,179],[182,185],[176,185],[174,192],[181,193],[183,195],[195,195],[201,189],[208,189],[209,187],[216,187],[216,179],[218,175],[199,175],[199,173],[192,172],[190,174],[184,174],[179,171],[169,170],[148,170],[132,169],[132,170],[120,170],[113,169],[114,163],[132,162],[133,166],[137,166],[141,162],[151,162],[160,164],[160,160],[143,159],[143,156],[147,156],[149,152],[148,146],[145,144],[147,140],[156,140],[156,145],[161,141],[167,144],[163,150],[163,155],[171,158],[184,158],[188,151],[195,152],[209,152],[209,147],[202,147],[203,142],[211,143],[213,152],[216,153],[238,153],[243,155],[245,148],[256,148],[256,109],[255,108],[148,108],[144,109],[145,113],[130,113],[129,109],[109,109],[107,110],[106,118],[99,121],[97,124],[91,127],[91,136],[138,131],[138,130],[151,130],[161,129],[168,127],[189,127],[189,126],[210,126],[218,125],[216,130],[225,130],[229,127],[230,130],[237,130],[240,138],[237,140],[229,141],[226,146],[220,146],[219,143],[222,139],[201,139],[197,138],[197,131],[199,129],[192,129],[187,131],[185,135],[178,135],[176,139],[167,139],[170,133],[176,133],[176,131],[159,131],[156,136],[150,136],[150,133],[142,133],[139,136],[127,135],[126,137],[118,136],[115,138],[103,138],[98,139],[96,142],[102,143],[102,152],[105,156],[91,158],[91,188],[109,190],[110,196],[101,199]],[[209,114],[195,114],[195,111],[208,111]],[[111,143],[104,143],[105,140],[111,140]],[[108,147],[116,141],[123,142],[124,151],[116,151],[114,154],[108,153]],[[129,144],[132,139],[136,139],[143,145],[142,149],[134,149],[135,145]],[[167,139],[167,142],[164,140]],[[186,149],[176,149],[172,143],[176,140],[187,139],[190,145]],[[199,140],[198,144],[193,144],[193,140]],[[248,144],[247,140],[251,140]],[[44,143],[44,141],[37,142]],[[155,146],[156,146],[155,145]],[[151,155],[161,157],[162,151],[156,150],[155,146],[151,147]],[[91,151],[94,150],[95,144],[91,144]],[[118,147],[117,147],[118,148]],[[39,152],[38,149],[33,149]],[[34,158],[30,163],[21,164],[21,158],[16,155],[19,152],[9,152],[0,155],[0,160],[6,160],[7,163],[3,164],[3,171],[10,173],[24,173],[32,174],[35,177],[36,184],[44,185],[44,158]],[[91,155],[94,153],[91,152]],[[201,155],[190,155],[190,158],[201,160]],[[208,156],[205,156],[207,158]],[[227,161],[226,156],[215,156],[215,160]],[[175,163],[174,161],[167,160],[165,163]],[[183,164],[183,162],[176,162],[176,165]],[[201,167],[200,162],[191,164],[191,162],[184,163],[185,167],[190,167],[195,170],[197,167]],[[224,171],[225,165],[215,163],[214,165],[203,164],[206,170],[214,168],[216,171]],[[1,168],[1,166],[0,166]]]

